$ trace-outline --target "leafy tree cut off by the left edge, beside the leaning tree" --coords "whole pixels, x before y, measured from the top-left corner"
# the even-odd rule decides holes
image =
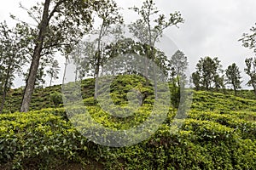
[[[22,65],[26,64],[25,44],[20,39],[15,28],[10,29],[6,22],[0,23],[0,78],[1,78],[1,105],[0,113],[9,88],[13,85],[15,74],[20,74]]]

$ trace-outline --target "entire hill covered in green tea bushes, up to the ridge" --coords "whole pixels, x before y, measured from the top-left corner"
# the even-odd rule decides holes
[[[142,78],[118,77],[111,95],[115,104],[125,105],[125,93],[138,82],[142,82],[144,104],[134,116],[120,119],[102,111],[93,99],[93,79],[84,80],[81,90],[90,116],[115,130],[145,121],[153,108],[154,93]],[[84,138],[67,119],[65,109],[54,108],[50,94],[55,91],[61,92],[61,86],[36,89],[32,111],[0,115],[0,169],[256,168],[256,100],[250,91],[241,91],[241,97],[230,91],[195,92],[188,117],[177,133],[171,133],[176,110],[170,108],[153,136],[124,148],[102,146]],[[5,112],[19,110],[20,94],[20,89],[10,92]]]

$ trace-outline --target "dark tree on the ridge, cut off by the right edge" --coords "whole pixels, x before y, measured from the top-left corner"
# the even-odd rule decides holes
[[[245,60],[247,67],[244,71],[250,77],[249,82],[247,82],[248,86],[252,86],[254,90],[254,94],[256,95],[256,57],[248,58]]]

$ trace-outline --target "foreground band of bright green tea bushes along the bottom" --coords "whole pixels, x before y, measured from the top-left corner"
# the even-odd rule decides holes
[[[97,122],[108,127],[120,126],[98,109],[96,106],[89,109]],[[196,116],[191,111],[183,127],[172,133],[172,114],[171,111],[170,120],[150,139],[124,148],[88,141],[67,121],[64,109],[3,114],[0,115],[0,168],[54,169],[68,162],[79,162],[92,169],[96,162],[100,162],[97,164],[102,169],[256,168],[255,124],[231,114],[207,112]],[[133,126],[135,121],[125,126]],[[242,131],[241,122],[248,123],[246,132]]]

